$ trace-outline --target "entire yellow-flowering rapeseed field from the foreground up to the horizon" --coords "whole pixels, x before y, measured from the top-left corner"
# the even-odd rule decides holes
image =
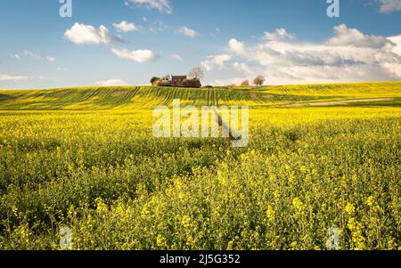
[[[152,110],[250,106],[250,143]],[[401,82],[0,90],[0,249],[401,249]]]

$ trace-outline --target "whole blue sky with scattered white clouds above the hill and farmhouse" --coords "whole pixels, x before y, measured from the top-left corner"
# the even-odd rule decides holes
[[[401,0],[0,0],[0,88],[401,79]],[[123,22],[123,23],[121,23]]]

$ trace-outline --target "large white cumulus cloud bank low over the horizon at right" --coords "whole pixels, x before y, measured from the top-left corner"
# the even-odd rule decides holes
[[[371,36],[341,24],[323,43],[290,41],[265,38],[257,45],[244,45],[233,69],[265,75],[272,85],[401,79],[401,36]]]

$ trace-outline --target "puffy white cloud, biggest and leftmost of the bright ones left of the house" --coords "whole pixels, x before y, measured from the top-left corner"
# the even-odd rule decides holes
[[[109,29],[103,25],[99,28],[94,28],[92,25],[80,24],[78,22],[65,31],[64,37],[78,45],[122,42],[121,38],[110,35]]]

